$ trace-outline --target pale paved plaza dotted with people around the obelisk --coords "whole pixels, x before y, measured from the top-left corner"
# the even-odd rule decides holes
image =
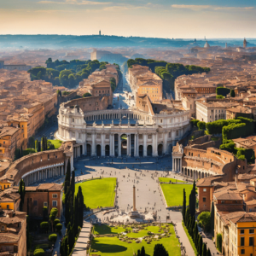
[[[184,177],[170,172],[172,170],[172,160],[169,157],[160,159],[135,158],[94,158],[83,156],[74,162],[76,182],[92,177],[117,177],[117,206],[121,210],[130,212],[132,208],[132,187],[136,186],[136,207],[139,212],[157,211],[157,221],[166,222],[166,216],[170,216],[171,221],[177,224],[177,236],[183,246],[186,247],[188,255],[194,255],[194,251],[189,243],[189,239],[182,227],[182,214],[166,209],[164,198],[160,193],[158,177],[167,177],[184,180]],[[109,217],[113,213],[109,213]],[[98,222],[105,222],[108,214],[103,216],[102,212],[92,216]],[[169,222],[169,221],[168,221]]]

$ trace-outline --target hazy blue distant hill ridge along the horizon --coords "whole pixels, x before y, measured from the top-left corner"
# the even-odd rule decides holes
[[[208,40],[211,46],[242,46],[241,39],[212,39]],[[250,46],[256,44],[256,40],[247,39]],[[0,49],[60,49],[69,47],[138,47],[138,48],[183,48],[191,45],[194,39],[168,39],[168,38],[138,38],[138,37],[118,37],[118,36],[65,36],[65,35],[0,35]],[[198,46],[203,46],[205,40],[198,39]]]

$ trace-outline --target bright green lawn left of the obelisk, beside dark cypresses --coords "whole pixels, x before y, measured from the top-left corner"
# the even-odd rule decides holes
[[[113,207],[116,177],[93,179],[75,185],[75,194],[78,193],[79,186],[83,191],[84,204],[86,207],[95,209],[97,207]]]

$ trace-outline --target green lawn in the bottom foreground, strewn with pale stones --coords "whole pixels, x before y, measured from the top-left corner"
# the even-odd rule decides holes
[[[98,229],[95,227],[96,230]],[[123,231],[122,227],[119,227],[118,229],[110,228],[106,226],[106,229],[109,230],[109,232],[112,232],[113,230],[116,230],[117,233],[119,233],[119,229],[121,232]],[[136,235],[136,237],[143,237],[147,236],[148,231],[152,231],[155,233],[158,232],[159,227],[155,226],[148,226],[146,228],[147,230],[140,230],[138,233],[128,233],[129,235]],[[98,254],[102,256],[131,256],[133,255],[133,252],[137,253],[138,249],[141,249],[142,247],[145,247],[146,255],[152,256],[154,252],[154,245],[157,243],[163,244],[164,247],[166,247],[166,250],[168,251],[169,255],[172,256],[180,256],[180,247],[179,242],[177,240],[177,237],[175,236],[175,232],[173,229],[172,224],[170,224],[170,237],[164,237],[160,240],[152,240],[150,244],[147,244],[147,241],[143,239],[141,243],[136,243],[135,241],[132,241],[131,243],[128,243],[126,241],[120,241],[118,237],[96,237],[92,241],[91,249],[97,250],[97,252],[90,252],[90,254]],[[146,233],[146,234],[145,234]],[[111,234],[111,233],[108,233]],[[131,237],[131,236],[129,236]]]

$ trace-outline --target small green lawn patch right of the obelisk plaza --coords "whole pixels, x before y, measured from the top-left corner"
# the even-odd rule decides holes
[[[187,205],[189,195],[193,185],[189,184],[160,184],[166,198],[168,207],[178,207],[183,205],[183,189],[186,191]]]

